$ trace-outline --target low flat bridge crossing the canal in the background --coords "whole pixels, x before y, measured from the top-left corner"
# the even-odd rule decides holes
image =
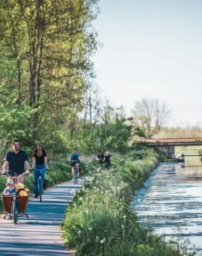
[[[141,138],[134,141],[134,143],[142,143],[161,151],[171,158],[178,158],[175,155],[175,146],[202,145],[202,137]]]

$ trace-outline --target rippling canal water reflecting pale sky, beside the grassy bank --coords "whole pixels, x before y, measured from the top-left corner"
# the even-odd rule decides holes
[[[164,162],[150,174],[134,197],[139,221],[167,239],[189,239],[202,255],[202,166],[200,157],[184,164]]]

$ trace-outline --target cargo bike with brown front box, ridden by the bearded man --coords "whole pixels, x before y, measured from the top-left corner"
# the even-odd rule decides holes
[[[22,173],[19,176],[11,176],[10,174],[5,174],[7,177],[10,177],[14,184],[18,183],[18,178],[22,175],[27,175],[26,173]],[[14,224],[17,224],[18,218],[26,216],[29,218],[27,213],[27,205],[29,200],[29,194],[27,196],[3,196],[3,204],[4,204],[4,210],[6,212],[6,215],[4,216],[4,219],[6,217],[10,217],[13,219]]]

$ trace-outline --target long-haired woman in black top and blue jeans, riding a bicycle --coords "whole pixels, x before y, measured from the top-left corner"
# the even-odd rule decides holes
[[[33,150],[32,157],[32,169],[34,170],[33,176],[35,179],[35,188],[33,189],[33,193],[35,194],[35,198],[38,197],[38,178],[39,174],[43,179],[43,186],[45,185],[45,172],[49,170],[47,165],[47,155],[44,147],[38,146]],[[40,171],[40,173],[39,173]]]

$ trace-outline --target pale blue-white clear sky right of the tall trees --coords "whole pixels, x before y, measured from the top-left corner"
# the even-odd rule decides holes
[[[202,0],[100,0],[96,83],[130,115],[142,98],[166,101],[167,125],[202,126]]]

